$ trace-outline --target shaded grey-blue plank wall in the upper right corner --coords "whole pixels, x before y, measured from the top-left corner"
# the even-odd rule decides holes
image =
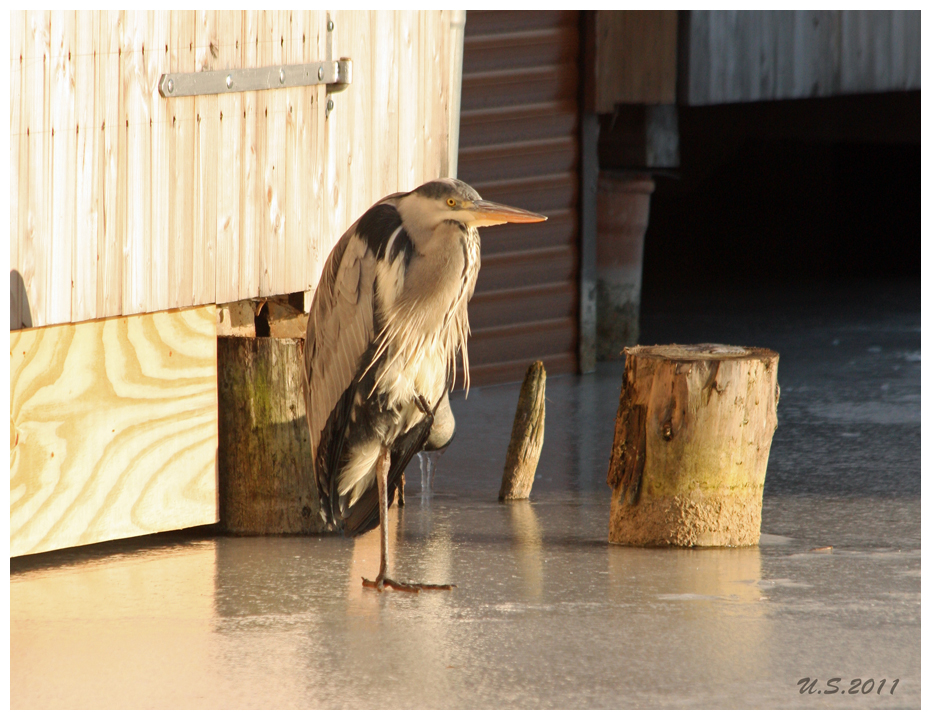
[[[918,11],[690,11],[687,104],[921,86]]]

